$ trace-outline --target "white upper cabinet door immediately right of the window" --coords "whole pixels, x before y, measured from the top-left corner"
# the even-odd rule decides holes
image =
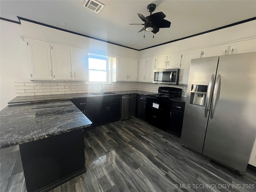
[[[117,81],[128,80],[128,58],[118,57],[116,73]]]

